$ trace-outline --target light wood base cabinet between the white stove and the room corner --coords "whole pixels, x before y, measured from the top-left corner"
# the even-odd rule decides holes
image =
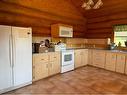
[[[75,50],[75,68],[82,67],[88,64],[88,50]]]

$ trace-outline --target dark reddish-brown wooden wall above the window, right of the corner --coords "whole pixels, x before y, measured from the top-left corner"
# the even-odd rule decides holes
[[[87,18],[86,38],[112,38],[113,26],[127,24],[127,0],[102,0],[104,5],[84,14]]]

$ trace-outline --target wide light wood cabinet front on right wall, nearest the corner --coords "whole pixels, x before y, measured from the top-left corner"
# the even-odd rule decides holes
[[[99,67],[99,68],[104,68],[105,66],[105,51],[103,50],[93,50],[92,53],[92,65]]]

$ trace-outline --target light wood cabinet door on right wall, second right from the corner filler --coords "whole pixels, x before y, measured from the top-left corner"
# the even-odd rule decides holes
[[[106,53],[106,64],[105,69],[110,71],[115,71],[116,67],[116,53],[107,52]]]

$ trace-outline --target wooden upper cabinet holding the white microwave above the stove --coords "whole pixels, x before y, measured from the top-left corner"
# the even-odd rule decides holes
[[[51,26],[52,37],[73,37],[73,27],[64,24],[54,24]]]

